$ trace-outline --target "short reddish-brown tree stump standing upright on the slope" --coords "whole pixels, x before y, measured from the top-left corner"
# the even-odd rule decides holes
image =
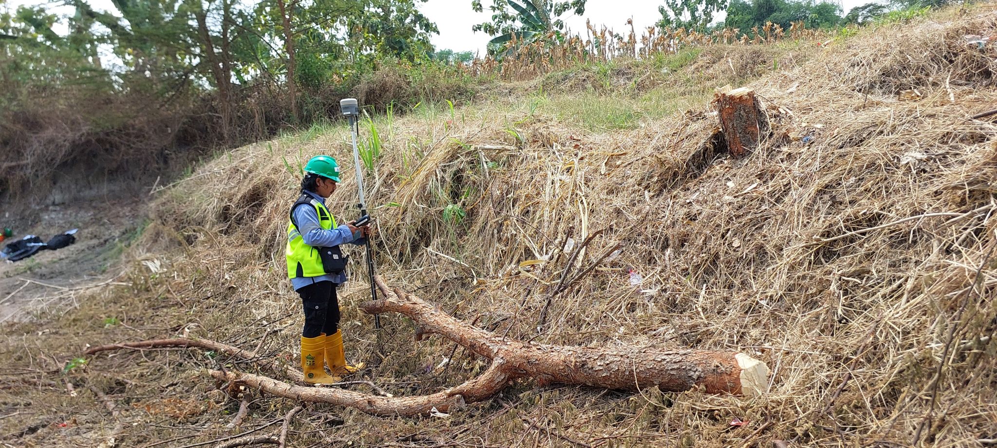
[[[735,157],[741,157],[758,147],[759,141],[769,132],[769,118],[748,88],[719,89],[714,97],[720,128],[727,140],[727,148]]]

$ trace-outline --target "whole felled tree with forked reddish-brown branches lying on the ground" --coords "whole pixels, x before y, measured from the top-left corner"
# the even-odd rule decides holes
[[[418,297],[389,289],[376,278],[384,299],[360,306],[365,313],[401,313],[418,326],[416,337],[439,335],[492,360],[481,375],[430,395],[376,396],[358,391],[294,385],[267,376],[231,370],[212,370],[217,379],[246,384],[273,395],[299,401],[325,402],[377,415],[416,415],[431,409],[446,412],[466,402],[488,399],[517,378],[535,378],[541,383],[588,385],[610,389],[638,390],[657,386],[665,391],[703,387],[707,393],[760,395],[768,386],[765,362],[744,353],[726,350],[666,349],[655,346],[568,346],[510,340],[457,320]],[[159,339],[108,344],[90,348],[87,354],[117,348],[152,346],[197,346],[232,357],[253,358],[255,353],[204,339]],[[272,364],[300,380],[291,367]]]

